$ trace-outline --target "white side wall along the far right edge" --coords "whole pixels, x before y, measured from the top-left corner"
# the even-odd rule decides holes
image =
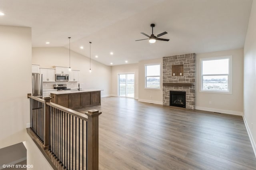
[[[252,9],[244,43],[244,119],[256,154],[256,1]]]

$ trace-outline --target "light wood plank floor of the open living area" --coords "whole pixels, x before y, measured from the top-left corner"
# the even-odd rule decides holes
[[[100,170],[256,169],[240,116],[120,97],[104,97],[101,103],[93,107],[102,112]]]

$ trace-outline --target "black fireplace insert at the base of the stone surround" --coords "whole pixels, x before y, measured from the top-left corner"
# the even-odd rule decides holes
[[[170,106],[186,108],[186,91],[170,91]]]

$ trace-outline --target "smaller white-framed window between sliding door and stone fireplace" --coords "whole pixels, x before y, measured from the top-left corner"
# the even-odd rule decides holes
[[[160,89],[160,64],[145,65],[145,88]]]

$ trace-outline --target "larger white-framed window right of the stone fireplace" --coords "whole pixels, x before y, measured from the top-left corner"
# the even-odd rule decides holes
[[[232,56],[200,59],[201,92],[231,94]]]

